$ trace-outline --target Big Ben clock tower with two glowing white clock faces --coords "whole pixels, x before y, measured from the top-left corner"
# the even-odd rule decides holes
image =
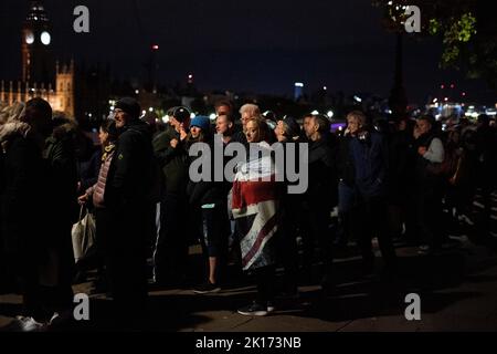
[[[52,33],[43,1],[29,1],[22,27],[22,81],[51,83],[54,77]]]

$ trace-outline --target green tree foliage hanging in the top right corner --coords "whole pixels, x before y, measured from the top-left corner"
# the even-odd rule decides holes
[[[421,33],[442,41],[442,69],[461,70],[469,77],[497,83],[497,23],[493,1],[477,0],[373,0],[383,10],[383,27],[404,31],[405,7],[421,10]]]

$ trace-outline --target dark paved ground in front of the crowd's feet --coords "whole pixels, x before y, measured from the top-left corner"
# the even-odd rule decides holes
[[[232,284],[220,293],[195,295],[189,289],[151,290],[151,319],[146,329],[160,331],[497,331],[497,253],[462,238],[437,256],[419,256],[415,248],[398,248],[401,274],[395,282],[376,275],[361,278],[357,258],[337,263],[337,287],[325,294],[318,285],[300,287],[300,298],[277,302],[265,317],[246,317],[235,310],[251,301],[254,288]],[[378,261],[380,262],[380,261]],[[91,283],[75,285],[88,292]],[[421,321],[408,321],[404,298],[421,296]],[[89,322],[62,331],[112,330],[103,319],[109,300],[91,296]],[[0,295],[0,329],[20,309],[19,295]]]

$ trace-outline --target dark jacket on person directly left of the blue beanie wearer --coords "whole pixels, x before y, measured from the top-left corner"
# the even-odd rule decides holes
[[[179,144],[172,148],[170,142],[175,138]],[[166,195],[184,196],[187,191],[189,162],[184,144],[171,126],[154,139],[154,153],[165,175]]]

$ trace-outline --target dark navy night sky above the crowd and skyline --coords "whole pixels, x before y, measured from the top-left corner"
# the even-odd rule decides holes
[[[135,6],[136,2],[136,6]],[[56,56],[106,63],[119,77],[140,80],[152,43],[161,83],[194,74],[201,90],[292,94],[370,92],[387,96],[393,81],[394,37],[380,25],[370,0],[45,0]],[[85,4],[91,33],[73,31],[73,9]],[[20,77],[20,33],[28,1],[0,0],[0,77]],[[404,82],[410,102],[422,103],[442,82],[468,98],[494,98],[483,82],[441,71],[440,42],[405,43]],[[490,101],[491,102],[491,101]]]

